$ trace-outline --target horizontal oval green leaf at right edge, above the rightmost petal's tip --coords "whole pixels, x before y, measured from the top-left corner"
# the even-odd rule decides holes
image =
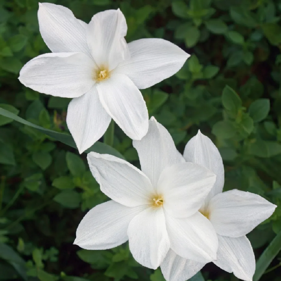
[[[249,145],[249,154],[269,158],[281,153],[281,145],[276,141],[256,140]]]

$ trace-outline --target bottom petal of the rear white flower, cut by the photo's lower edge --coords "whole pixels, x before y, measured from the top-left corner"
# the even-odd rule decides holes
[[[185,281],[200,271],[204,265],[205,263],[184,259],[170,249],[160,267],[166,281]]]

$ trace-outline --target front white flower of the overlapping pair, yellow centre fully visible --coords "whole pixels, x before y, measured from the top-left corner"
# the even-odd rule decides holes
[[[170,248],[198,262],[216,259],[217,235],[198,212],[214,185],[214,173],[194,163],[179,163],[170,134],[153,117],[147,135],[133,145],[142,171],[111,155],[88,154],[92,174],[112,200],[85,215],[74,244],[109,249],[129,239],[133,257],[152,269]]]

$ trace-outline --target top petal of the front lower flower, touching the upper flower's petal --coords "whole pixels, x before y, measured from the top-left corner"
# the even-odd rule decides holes
[[[150,178],[153,186],[157,186],[162,171],[177,163],[178,151],[175,143],[165,127],[154,117],[150,118],[147,134],[141,141],[133,141],[141,170]]]

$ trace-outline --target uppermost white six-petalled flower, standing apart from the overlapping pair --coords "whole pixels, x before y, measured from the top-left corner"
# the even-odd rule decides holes
[[[82,153],[105,133],[111,118],[131,139],[148,130],[148,112],[138,89],[175,74],[189,57],[158,38],[129,44],[118,10],[95,14],[86,24],[66,7],[39,3],[40,33],[53,53],[22,68],[19,80],[35,91],[73,98],[67,126]]]

